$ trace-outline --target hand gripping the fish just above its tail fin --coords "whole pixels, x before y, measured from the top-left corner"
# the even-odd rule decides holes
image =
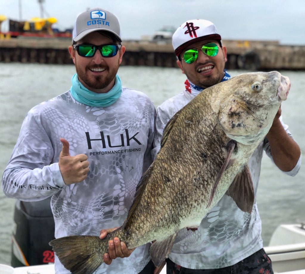
[[[113,232],[116,229],[117,228],[102,229],[100,231],[99,238],[104,239],[107,234]],[[104,263],[106,265],[110,265],[112,260],[115,258],[129,257],[134,250],[135,249],[128,249],[124,242],[121,242],[119,238],[115,237],[113,240],[109,240],[108,242],[108,253],[105,253],[103,257]]]

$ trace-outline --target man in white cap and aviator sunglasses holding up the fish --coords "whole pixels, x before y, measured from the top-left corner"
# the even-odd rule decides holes
[[[163,129],[170,118],[205,88],[231,78],[224,69],[227,50],[221,45],[221,36],[212,22],[186,21],[175,31],[172,43],[178,57],[177,64],[187,80],[183,92],[157,108],[154,155],[160,149]],[[279,109],[264,142],[248,163],[255,192],[263,150],[286,174],[294,176],[299,171],[300,148],[287,128]],[[233,199],[224,195],[202,217],[196,231],[187,228],[179,231],[167,258],[167,274],[273,273],[271,261],[263,249],[256,204],[252,213],[245,213]]]

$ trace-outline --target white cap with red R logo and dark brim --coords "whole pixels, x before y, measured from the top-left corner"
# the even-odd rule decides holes
[[[215,25],[203,19],[186,21],[173,34],[175,54],[179,56],[187,46],[203,39],[221,40]]]

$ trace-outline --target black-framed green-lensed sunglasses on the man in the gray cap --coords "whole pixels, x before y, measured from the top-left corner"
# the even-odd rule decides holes
[[[102,57],[113,57],[117,55],[121,45],[73,45],[73,48],[76,49],[77,53],[83,57],[92,57],[97,50],[101,52]]]

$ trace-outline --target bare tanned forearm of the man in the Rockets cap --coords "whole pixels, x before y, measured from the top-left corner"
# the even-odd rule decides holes
[[[267,139],[275,165],[282,171],[291,171],[300,158],[298,144],[287,134],[279,119],[274,121]]]

